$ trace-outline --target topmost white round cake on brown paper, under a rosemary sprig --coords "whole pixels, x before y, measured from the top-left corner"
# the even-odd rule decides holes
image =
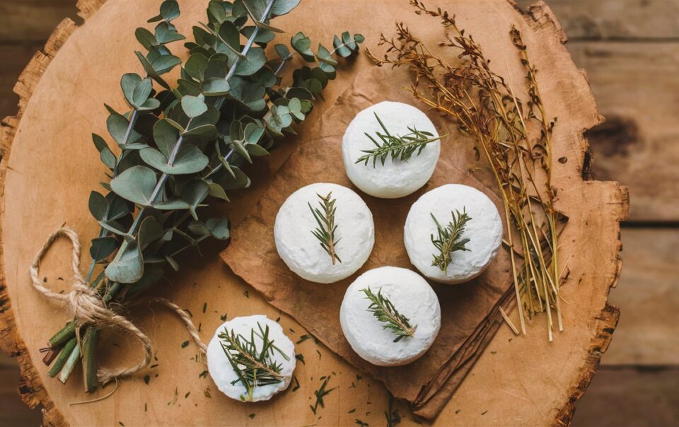
[[[372,105],[359,112],[344,132],[342,158],[349,180],[352,180],[361,191],[374,197],[396,199],[407,196],[417,191],[431,178],[436,162],[439,161],[441,142],[434,141],[426,144],[419,156],[415,151],[407,161],[392,160],[389,155],[384,165],[379,158],[374,166],[372,159],[368,160],[367,165],[363,161],[356,163],[356,160],[366,154],[362,150],[376,148],[366,134],[372,136],[380,145],[383,144],[376,136],[376,132],[385,134],[385,131],[377,121],[375,114],[394,136],[410,134],[409,127],[430,132],[434,138],[437,138],[439,134],[424,112],[412,105],[390,101]]]

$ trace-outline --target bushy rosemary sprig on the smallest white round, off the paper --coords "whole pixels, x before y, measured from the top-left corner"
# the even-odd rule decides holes
[[[275,352],[278,352],[286,361],[290,358],[274,345],[274,340],[269,339],[269,326],[262,329],[262,325],[257,322],[259,333],[255,332],[255,328],[250,329],[250,339],[246,339],[241,334],[236,334],[231,329],[228,332],[219,334],[219,339],[222,340],[221,348],[224,349],[226,358],[233,371],[238,375],[238,380],[233,380],[231,385],[240,382],[248,391],[248,395],[240,396],[240,400],[250,402],[253,399],[253,392],[255,388],[260,385],[277,384],[283,380],[281,375],[281,363],[277,363],[274,359]],[[262,339],[262,348],[257,349],[257,342],[255,337]]]

